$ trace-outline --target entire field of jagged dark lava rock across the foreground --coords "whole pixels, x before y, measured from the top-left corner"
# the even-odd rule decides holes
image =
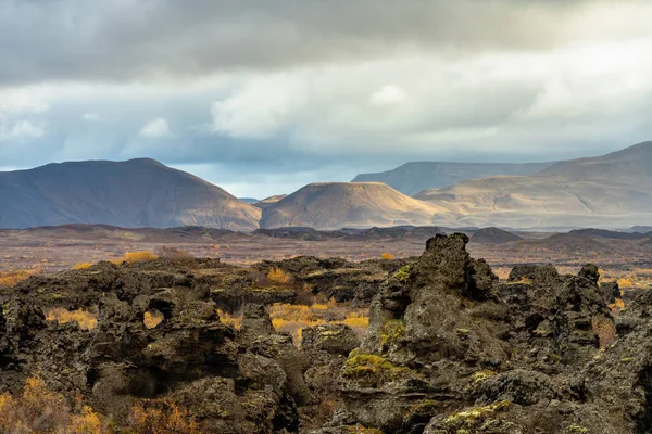
[[[135,400],[172,399],[206,433],[650,432],[652,292],[614,319],[607,303],[619,291],[599,286],[595,266],[577,276],[518,266],[499,282],[467,242],[431,238],[419,258],[361,286],[365,296],[348,288],[361,280],[333,272],[352,270],[346,261],[261,263],[297,279],[317,276],[329,295],[344,288],[342,299],[373,297],[362,343],[346,326],[317,326],[303,331],[300,349],[264,307],[292,294],[248,298],[247,269],[209,259],[197,259],[192,272],[101,263],[33,277],[0,294],[0,390],[16,391],[40,372],[50,387],[79,394],[114,420]],[[221,288],[202,266],[224,267]],[[215,311],[236,299],[239,330]],[[95,307],[98,326],[46,321],[52,306]],[[153,310],[162,321],[147,328]]]

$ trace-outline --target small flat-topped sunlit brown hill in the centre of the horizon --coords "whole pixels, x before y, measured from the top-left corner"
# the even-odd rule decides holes
[[[430,226],[443,212],[379,182],[312,183],[263,208],[261,227]]]

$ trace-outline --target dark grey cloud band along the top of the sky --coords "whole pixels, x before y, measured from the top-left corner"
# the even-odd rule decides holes
[[[548,49],[591,36],[573,22],[595,3],[5,0],[0,84],[189,79],[424,50]],[[628,26],[628,35],[637,31]]]

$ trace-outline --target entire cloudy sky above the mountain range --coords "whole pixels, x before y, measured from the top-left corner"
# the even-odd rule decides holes
[[[652,140],[648,0],[0,0],[0,170],[152,157],[237,196]]]

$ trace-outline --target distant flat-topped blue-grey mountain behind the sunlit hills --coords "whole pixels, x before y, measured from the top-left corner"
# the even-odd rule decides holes
[[[473,178],[494,175],[531,175],[553,163],[406,163],[393,170],[358,175],[352,182],[383,182],[408,195]]]

